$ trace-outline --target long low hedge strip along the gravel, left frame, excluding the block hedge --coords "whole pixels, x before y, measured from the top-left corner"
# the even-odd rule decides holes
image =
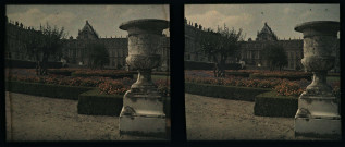
[[[77,100],[79,94],[90,89],[93,89],[93,87],[51,85],[14,81],[5,82],[5,90],[8,91],[73,100]]]

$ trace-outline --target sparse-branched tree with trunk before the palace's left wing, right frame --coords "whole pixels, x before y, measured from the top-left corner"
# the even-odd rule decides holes
[[[229,57],[235,57],[243,40],[242,29],[229,29],[225,25],[217,33],[202,32],[200,35],[201,51],[214,63],[214,77],[224,77],[224,65]]]

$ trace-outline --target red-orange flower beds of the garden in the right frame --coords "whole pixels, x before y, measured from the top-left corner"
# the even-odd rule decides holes
[[[238,72],[252,72],[257,74],[266,75],[306,75],[308,73],[301,72],[268,72],[251,70],[238,70]],[[310,81],[288,81],[285,78],[248,78],[241,76],[226,76],[223,78],[213,77],[212,71],[193,70],[185,72],[185,82],[200,83],[200,84],[212,84],[212,85],[224,85],[224,86],[239,86],[239,87],[255,87],[255,88],[270,88],[281,96],[299,96],[305,88],[310,84]],[[329,83],[333,87],[333,93],[340,95],[340,82]]]

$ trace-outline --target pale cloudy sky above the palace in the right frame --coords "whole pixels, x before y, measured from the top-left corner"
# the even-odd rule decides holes
[[[206,28],[217,30],[218,25],[243,28],[246,39],[255,39],[264,22],[280,39],[301,38],[294,30],[308,21],[340,21],[340,4],[188,4],[185,16]]]

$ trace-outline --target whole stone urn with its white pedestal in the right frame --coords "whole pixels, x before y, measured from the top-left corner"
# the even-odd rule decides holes
[[[301,63],[313,73],[312,83],[298,99],[295,137],[341,137],[340,99],[326,84],[328,71],[334,66],[335,42],[340,23],[307,22],[295,27],[304,35]]]

